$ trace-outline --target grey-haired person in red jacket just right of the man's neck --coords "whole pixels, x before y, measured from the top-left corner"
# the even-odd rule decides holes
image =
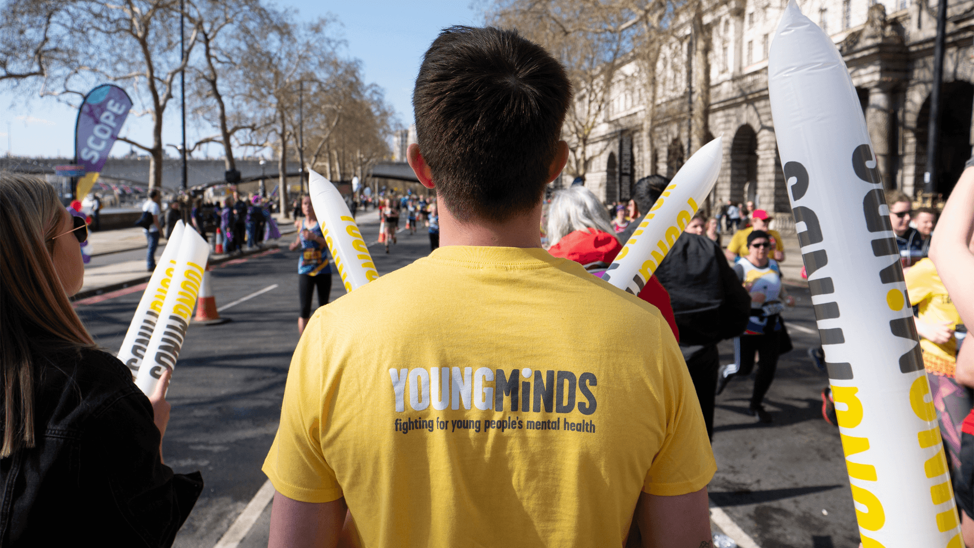
[[[547,236],[551,242],[548,253],[574,260],[600,278],[618,252],[622,251],[605,207],[584,186],[571,186],[555,192],[547,218]],[[656,276],[647,281],[643,291],[639,292],[639,298],[659,309],[679,342],[680,331],[673,317],[669,294]]]

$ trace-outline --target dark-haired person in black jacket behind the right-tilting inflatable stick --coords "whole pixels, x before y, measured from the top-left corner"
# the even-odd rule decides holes
[[[664,176],[639,179],[633,198],[639,211],[650,211],[667,184],[669,179]],[[631,230],[642,221],[640,218],[630,222]],[[619,240],[626,242],[631,230],[619,233]],[[705,236],[689,232],[677,238],[654,274],[670,294],[673,316],[680,330],[680,351],[693,379],[707,435],[713,440],[714,393],[720,368],[717,343],[744,332],[751,297],[720,247]]]

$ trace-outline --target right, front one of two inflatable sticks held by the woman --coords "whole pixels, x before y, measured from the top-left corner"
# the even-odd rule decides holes
[[[184,230],[156,329],[146,345],[145,358],[135,376],[135,385],[145,395],[155,391],[160,376],[167,369],[172,370],[179,359],[179,350],[186,339],[196,297],[203,284],[208,256],[209,244],[206,240],[196,230]]]

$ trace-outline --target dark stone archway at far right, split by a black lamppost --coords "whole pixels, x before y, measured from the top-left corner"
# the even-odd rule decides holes
[[[940,137],[937,140],[937,192],[946,198],[964,164],[971,157],[971,106],[974,101],[974,85],[968,82],[945,82],[941,88]],[[930,123],[930,98],[923,101],[917,116],[917,169],[914,178],[915,191],[923,189],[926,173],[927,135]]]

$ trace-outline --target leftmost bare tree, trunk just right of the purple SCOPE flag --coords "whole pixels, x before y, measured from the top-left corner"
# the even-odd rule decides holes
[[[75,107],[96,83],[128,88],[135,101],[132,114],[152,119],[152,140],[119,140],[149,153],[149,186],[161,185],[163,114],[173,79],[188,59],[179,55],[179,1],[42,0],[9,3],[5,9],[6,33],[24,37],[11,42],[14,56],[4,61],[8,75],[40,78],[41,97]],[[187,52],[196,40],[192,29]]]

